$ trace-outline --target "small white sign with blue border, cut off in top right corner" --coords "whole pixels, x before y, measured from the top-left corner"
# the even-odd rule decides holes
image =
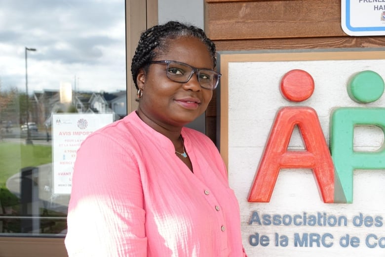
[[[342,0],[341,26],[350,36],[385,35],[385,1]]]

